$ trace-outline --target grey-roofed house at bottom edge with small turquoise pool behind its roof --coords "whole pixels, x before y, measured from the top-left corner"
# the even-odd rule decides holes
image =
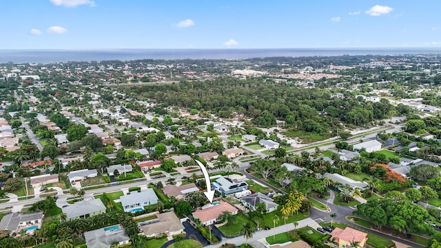
[[[130,242],[129,236],[121,225],[103,227],[84,233],[88,248],[110,248],[114,245],[125,245]]]

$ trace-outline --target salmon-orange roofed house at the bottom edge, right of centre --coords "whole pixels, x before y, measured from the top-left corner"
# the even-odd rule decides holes
[[[334,228],[331,232],[331,238],[338,243],[338,248],[353,247],[357,243],[357,247],[364,247],[367,242],[367,233],[346,227],[345,229]]]

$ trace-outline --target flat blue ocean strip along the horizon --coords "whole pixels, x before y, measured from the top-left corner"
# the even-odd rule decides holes
[[[441,48],[0,50],[0,63],[130,61],[136,59],[249,59],[271,56],[296,57],[367,54],[441,54]]]

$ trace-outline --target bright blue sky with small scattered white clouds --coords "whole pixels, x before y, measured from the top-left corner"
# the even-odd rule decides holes
[[[0,48],[438,48],[440,7],[436,0],[5,0]]]

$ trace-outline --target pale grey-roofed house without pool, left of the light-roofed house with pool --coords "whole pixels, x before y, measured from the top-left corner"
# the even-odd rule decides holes
[[[61,210],[66,214],[66,220],[72,220],[103,214],[105,213],[105,205],[100,199],[84,198],[79,202],[61,208]]]

